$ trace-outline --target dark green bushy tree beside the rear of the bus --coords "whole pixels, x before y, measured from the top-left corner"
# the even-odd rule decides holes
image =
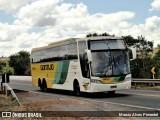
[[[16,75],[29,75],[30,71],[30,53],[27,51],[20,51],[11,55],[9,65],[14,68]]]

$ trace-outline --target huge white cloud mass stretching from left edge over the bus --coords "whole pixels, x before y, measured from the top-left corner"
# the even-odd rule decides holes
[[[0,24],[0,40],[9,47],[1,46],[6,54],[20,49],[31,50],[64,38],[84,37],[93,32],[116,34],[119,28],[127,29],[130,26],[127,20],[135,16],[129,11],[90,15],[83,3],[74,5],[61,0],[37,0],[22,6],[13,15],[16,20],[12,25]],[[35,27],[41,27],[42,31],[29,32]]]

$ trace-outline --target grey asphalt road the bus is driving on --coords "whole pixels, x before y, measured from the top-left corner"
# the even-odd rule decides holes
[[[31,77],[10,77],[9,85],[13,89],[22,89],[34,92],[41,92],[39,88],[32,85]],[[41,92],[42,93],[42,92]],[[49,95],[60,95],[64,97],[76,97],[69,91],[50,90],[47,94]],[[85,99],[95,102],[105,102],[123,106],[129,106],[133,108],[144,108],[148,110],[159,110],[160,111],[160,91],[151,90],[121,90],[117,91],[114,96],[107,93],[100,94],[83,94],[82,96],[76,97],[78,99]]]

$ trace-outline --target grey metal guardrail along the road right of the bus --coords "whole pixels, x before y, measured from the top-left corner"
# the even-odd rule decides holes
[[[142,79],[142,78],[132,78],[132,83],[134,83],[135,89],[137,87],[138,83],[145,83],[145,84],[152,84],[152,86],[155,86],[155,84],[160,84],[160,79]]]

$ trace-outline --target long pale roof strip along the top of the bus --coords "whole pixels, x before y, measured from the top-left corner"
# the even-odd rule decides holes
[[[109,39],[109,40],[117,39],[117,40],[120,40],[120,39],[122,39],[122,37],[95,36],[95,37],[86,37],[86,38],[68,38],[68,39],[64,39],[64,40],[49,43],[48,46],[33,48],[32,51],[43,50],[43,49],[57,47],[57,46],[65,45],[65,44],[75,43],[76,41],[102,40],[102,39]]]

